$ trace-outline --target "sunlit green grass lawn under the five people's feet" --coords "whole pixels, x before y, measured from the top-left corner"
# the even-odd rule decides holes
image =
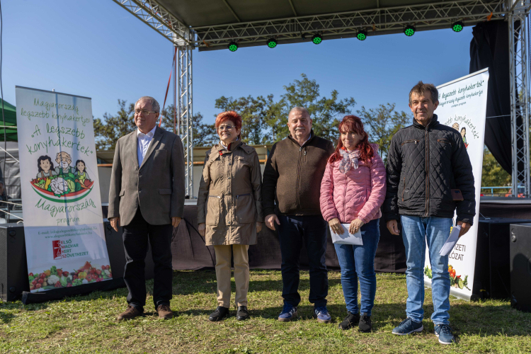
[[[152,280],[147,287],[152,291]],[[280,271],[251,270],[248,321],[236,321],[235,309],[225,321],[208,321],[216,307],[215,290],[213,270],[174,272],[171,309],[176,316],[169,321],[158,319],[152,297],[144,316],[116,321],[126,307],[125,289],[28,306],[0,302],[0,353],[531,353],[531,314],[498,300],[452,297],[450,320],[458,343],[440,345],[430,321],[429,289],[424,331],[392,335],[405,316],[404,275],[377,275],[373,333],[337,328],[346,308],[341,274],[335,271],[329,272],[332,324],[312,319],[307,271],[301,274],[298,321],[277,321],[282,307]]]

